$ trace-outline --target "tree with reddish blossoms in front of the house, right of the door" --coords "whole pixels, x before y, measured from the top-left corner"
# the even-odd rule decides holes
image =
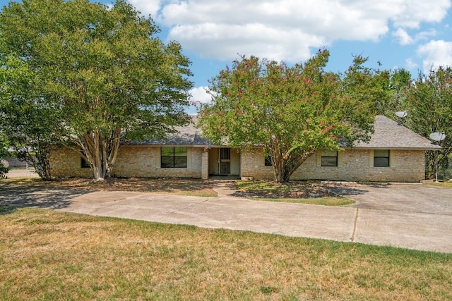
[[[218,145],[263,145],[278,183],[316,149],[367,140],[368,103],[344,94],[339,76],[324,70],[328,58],[321,50],[295,66],[255,56],[234,61],[210,81],[213,102],[199,108],[203,134]]]

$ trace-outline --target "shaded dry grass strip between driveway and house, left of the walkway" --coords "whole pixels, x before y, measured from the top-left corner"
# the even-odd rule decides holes
[[[213,181],[184,178],[109,178],[102,182],[74,178],[44,182],[36,178],[11,178],[0,180],[1,185],[28,185],[45,188],[69,188],[87,190],[121,190],[138,192],[217,197],[213,191]]]

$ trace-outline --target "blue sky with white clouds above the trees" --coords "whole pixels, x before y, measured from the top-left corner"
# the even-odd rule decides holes
[[[192,62],[196,102],[208,102],[208,80],[242,55],[298,63],[326,48],[328,70],[344,72],[354,55],[362,55],[369,67],[405,68],[413,78],[452,66],[452,0],[129,2],[153,18],[160,39],[182,44]]]

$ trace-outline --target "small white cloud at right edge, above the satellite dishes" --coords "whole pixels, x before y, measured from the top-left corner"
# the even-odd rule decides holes
[[[417,54],[422,56],[422,68],[427,73],[430,68],[452,66],[452,42],[432,40],[417,47]]]

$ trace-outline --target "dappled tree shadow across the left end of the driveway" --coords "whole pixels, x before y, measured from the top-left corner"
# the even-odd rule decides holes
[[[75,197],[90,192],[92,191],[85,189],[59,189],[45,186],[0,183],[0,206],[62,209],[69,207]]]

